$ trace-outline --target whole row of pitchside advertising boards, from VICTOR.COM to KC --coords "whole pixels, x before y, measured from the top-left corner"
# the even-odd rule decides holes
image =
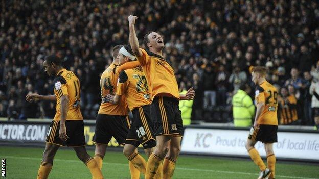
[[[0,144],[22,146],[44,146],[50,120],[1,121]],[[86,144],[93,146],[95,121],[84,120]],[[319,162],[319,133],[314,130],[278,130],[278,142],[274,144],[277,159],[292,161]],[[231,126],[190,125],[185,129],[181,143],[181,154],[214,155],[248,158],[245,149],[249,129]],[[112,138],[108,146],[118,147]],[[256,149],[265,157],[263,144],[258,142]]]

